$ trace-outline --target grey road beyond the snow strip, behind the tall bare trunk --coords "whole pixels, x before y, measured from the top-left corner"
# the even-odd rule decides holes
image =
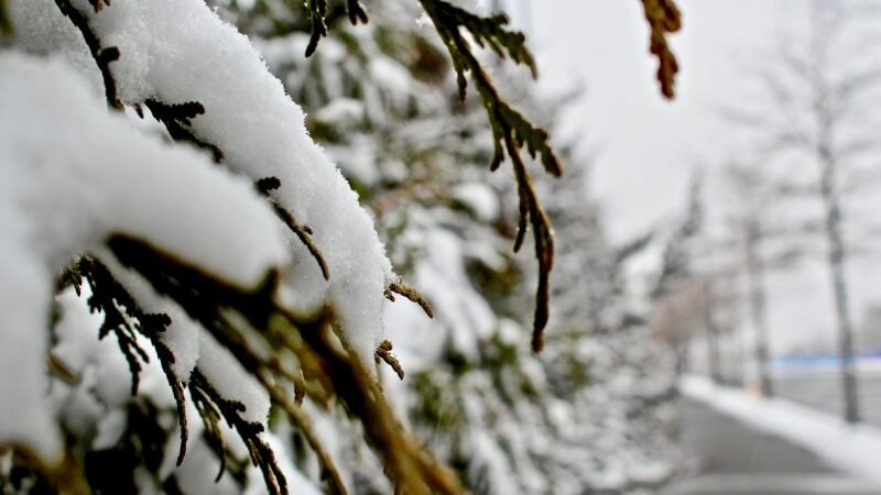
[[[842,416],[841,378],[837,373],[779,373],[772,384],[780,397]],[[857,377],[857,386],[863,420],[881,427],[881,374],[862,373]]]

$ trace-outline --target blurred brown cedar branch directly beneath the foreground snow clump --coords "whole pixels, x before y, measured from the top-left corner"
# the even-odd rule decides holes
[[[402,493],[461,493],[456,477],[401,429],[373,373],[347,334],[330,324],[334,317],[329,309],[317,320],[303,320],[273,300],[271,294],[278,280],[272,278],[265,280],[262,290],[246,294],[139,241],[116,237],[109,246],[123,265],[178,302],[260,383],[316,450],[336,491],[345,493],[336,468],[285,387],[295,385],[302,375],[322,376],[318,388],[305,388],[316,403],[326,400],[328,394],[336,396],[360,419],[368,442]],[[285,366],[284,360],[274,354],[264,355],[264,349],[273,349],[282,356],[290,353],[303,366],[302,375],[300,369]]]

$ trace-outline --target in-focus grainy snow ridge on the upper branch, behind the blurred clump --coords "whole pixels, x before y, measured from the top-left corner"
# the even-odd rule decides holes
[[[97,14],[85,0],[76,3],[102,45],[121,53],[111,70],[124,102],[198,101],[205,114],[193,119],[192,131],[219,146],[226,165],[254,180],[281,179],[273,196],[314,229],[330,275],[325,280],[307,249],[287,234],[294,262],[285,273],[283,302],[303,316],[329,302],[356,349],[372,355],[381,341],[383,289],[394,279],[391,263],[357,195],[312,141],[303,111],[248,38],[202,0],[116,0]],[[44,26],[43,18],[59,15],[53,1],[18,0],[11,7],[25,45],[45,37],[62,38],[53,46],[81,45],[69,30],[33,33]]]

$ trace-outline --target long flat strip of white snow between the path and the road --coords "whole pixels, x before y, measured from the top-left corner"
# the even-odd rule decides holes
[[[813,451],[842,471],[881,483],[881,429],[877,427],[849,425],[788,400],[719,387],[703,376],[682,378],[679,388],[721,413]]]

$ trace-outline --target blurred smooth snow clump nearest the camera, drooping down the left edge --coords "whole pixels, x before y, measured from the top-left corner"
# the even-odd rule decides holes
[[[111,233],[241,287],[287,263],[248,182],[108,114],[63,62],[0,55],[0,442],[58,452],[46,407],[54,275]]]

